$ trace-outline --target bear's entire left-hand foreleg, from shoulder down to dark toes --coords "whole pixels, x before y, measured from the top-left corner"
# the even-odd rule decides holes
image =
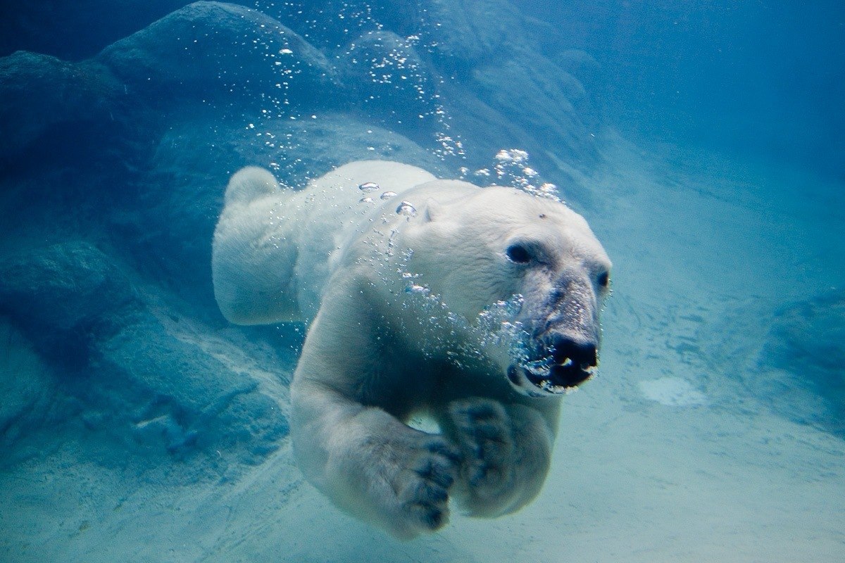
[[[373,406],[384,345],[363,299],[369,285],[329,285],[291,384],[291,436],[306,478],[341,508],[400,538],[448,520],[461,454]],[[373,379],[375,378],[375,379]]]

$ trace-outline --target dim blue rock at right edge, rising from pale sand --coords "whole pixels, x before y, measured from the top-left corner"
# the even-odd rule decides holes
[[[780,414],[845,437],[845,295],[778,311],[751,384]]]

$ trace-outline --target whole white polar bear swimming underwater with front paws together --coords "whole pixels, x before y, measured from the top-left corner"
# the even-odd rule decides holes
[[[291,385],[303,474],[403,539],[442,527],[450,497],[497,517],[537,495],[560,397],[597,366],[610,267],[562,203],[387,161],[298,192],[237,172],[212,258],[227,319],[309,324]]]

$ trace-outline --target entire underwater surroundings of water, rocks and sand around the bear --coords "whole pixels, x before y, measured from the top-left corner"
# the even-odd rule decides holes
[[[841,3],[0,16],[0,560],[845,557]],[[408,542],[341,512],[292,457],[307,327],[215,302],[232,173],[363,159],[553,192],[613,260],[520,512]]]

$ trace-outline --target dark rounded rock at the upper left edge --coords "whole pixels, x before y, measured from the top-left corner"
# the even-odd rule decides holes
[[[17,51],[0,58],[0,162],[59,122],[108,119],[120,84],[91,62]],[[14,133],[14,134],[12,134]]]

